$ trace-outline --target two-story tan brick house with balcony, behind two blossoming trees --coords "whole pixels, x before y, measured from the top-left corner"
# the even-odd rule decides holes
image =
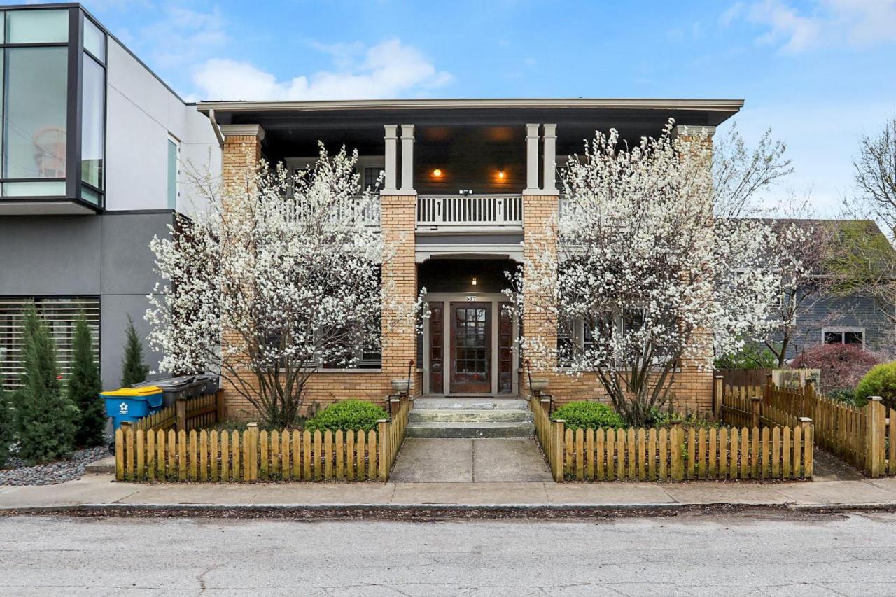
[[[412,326],[383,337],[382,354],[361,355],[353,369],[322,368],[309,402],[345,398],[383,401],[392,379],[415,361],[412,393],[432,397],[513,397],[528,393],[515,342],[521,329],[556,342],[556,322],[502,308],[505,272],[526,259],[560,207],[557,166],[581,153],[595,130],[615,127],[637,143],[657,135],[669,117],[714,131],[743,105],[700,99],[409,99],[359,101],[207,101],[222,141],[225,181],[256,160],[298,169],[314,161],[317,143],[358,150],[359,173],[372,185],[384,171],[379,226],[398,244],[383,265],[401,299],[426,289],[431,314],[418,336]],[[598,398],[596,379],[536,371],[557,401]],[[684,362],[676,405],[711,407],[711,371]],[[231,393],[231,412],[247,411]]]

